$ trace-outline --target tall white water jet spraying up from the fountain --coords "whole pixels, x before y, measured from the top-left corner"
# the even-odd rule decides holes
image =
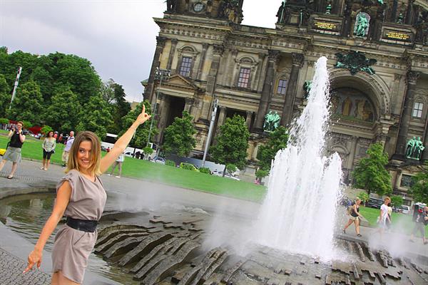
[[[330,260],[342,178],[337,153],[325,152],[329,120],[327,58],[318,59],[307,106],[292,124],[287,148],[272,162],[255,242]]]

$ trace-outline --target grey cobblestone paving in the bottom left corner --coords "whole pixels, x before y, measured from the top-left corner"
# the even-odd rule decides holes
[[[39,270],[32,270],[22,274],[25,268],[26,263],[24,261],[0,249],[1,285],[42,285],[51,283],[51,276]]]

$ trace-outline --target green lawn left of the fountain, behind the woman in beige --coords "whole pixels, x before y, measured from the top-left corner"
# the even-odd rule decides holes
[[[0,131],[0,148],[6,148],[6,144],[9,140],[6,136],[1,135],[1,133],[6,134],[7,132]],[[42,142],[43,140],[37,140],[27,136],[22,147],[22,157],[31,160],[41,160]],[[64,145],[62,144],[56,145],[56,152],[51,157],[52,163],[61,164],[63,147]],[[103,155],[105,154],[106,152],[103,152]],[[250,182],[236,181],[225,177],[183,170],[178,167],[148,162],[147,160],[137,160],[133,157],[125,157],[122,168],[122,175],[126,177],[134,177],[165,185],[210,192],[238,199],[260,202],[265,195],[265,187],[254,185]]]

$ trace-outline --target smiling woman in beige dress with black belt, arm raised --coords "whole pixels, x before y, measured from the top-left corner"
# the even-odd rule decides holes
[[[101,144],[92,132],[81,132],[71,146],[66,176],[56,187],[56,201],[51,217],[41,231],[34,250],[29,254],[28,266],[40,267],[46,241],[61,217],[67,217],[55,237],[52,249],[51,284],[82,284],[88,257],[95,246],[96,224],[106,204],[106,192],[98,175],[106,172],[126,149],[139,125],[151,116],[143,110],[136,121],[115,143],[113,149],[101,158]]]

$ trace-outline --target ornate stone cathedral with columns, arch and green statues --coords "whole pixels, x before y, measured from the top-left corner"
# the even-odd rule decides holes
[[[420,160],[405,153],[413,137],[428,147],[428,2],[277,1],[275,28],[241,24],[244,12],[243,0],[166,1],[163,18],[154,19],[161,31],[143,83],[145,98],[157,103],[156,142],[187,110],[200,156],[218,99],[215,130],[235,114],[246,118],[247,171],[254,171],[265,115],[277,112],[289,126],[305,107],[315,61],[326,56],[334,123],[327,151],[340,154],[349,182],[369,145],[382,142],[394,192],[405,195],[428,159],[428,149]],[[157,68],[170,76],[158,80]]]

